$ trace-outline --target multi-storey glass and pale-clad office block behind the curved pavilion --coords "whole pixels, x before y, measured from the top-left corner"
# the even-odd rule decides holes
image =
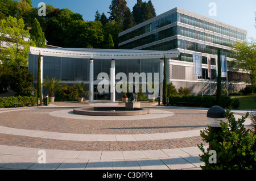
[[[214,94],[217,50],[220,49],[221,54],[225,54],[230,61],[230,44],[246,41],[247,31],[175,8],[119,33],[119,39],[120,49],[179,50],[179,57],[168,61],[168,82],[176,87],[188,87],[192,94],[202,92],[199,87],[203,82],[203,93]],[[193,53],[202,54],[203,77],[193,77]],[[211,57],[211,81],[207,71],[207,54]],[[232,64],[228,65],[228,89],[230,92],[239,91],[245,86],[246,76],[241,70],[234,71]]]

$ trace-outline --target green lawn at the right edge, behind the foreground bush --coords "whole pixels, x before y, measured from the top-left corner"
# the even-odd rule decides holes
[[[256,110],[256,94],[231,97],[231,99],[236,98],[240,101],[238,110]]]

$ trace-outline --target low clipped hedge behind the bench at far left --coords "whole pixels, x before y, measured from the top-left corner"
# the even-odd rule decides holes
[[[33,105],[36,105],[36,100],[36,97],[32,96],[3,97],[0,98],[0,107],[14,107],[12,103],[33,103]],[[24,105],[16,106],[23,107]]]

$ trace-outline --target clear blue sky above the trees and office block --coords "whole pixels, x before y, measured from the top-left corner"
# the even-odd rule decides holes
[[[148,0],[142,0],[147,2]],[[179,7],[188,11],[195,12],[208,18],[218,20],[220,22],[230,24],[232,26],[246,30],[248,33],[248,40],[250,37],[256,39],[255,26],[255,12],[256,1],[255,0],[151,0],[155,7],[156,15],[163,14],[164,12]],[[32,5],[38,7],[39,2],[44,2],[47,5],[52,5],[55,8],[64,9],[68,8],[73,12],[82,15],[84,20],[94,20],[96,11],[100,14],[102,12],[108,17],[109,6],[112,0],[32,0]],[[133,10],[133,6],[137,3],[137,0],[126,0],[127,6],[130,10]],[[210,3],[216,5],[216,16],[210,15],[209,11],[213,6]],[[212,12],[212,11],[211,11]]]

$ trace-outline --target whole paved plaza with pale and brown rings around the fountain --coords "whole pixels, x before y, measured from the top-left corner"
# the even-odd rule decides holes
[[[141,103],[151,114],[75,115],[77,107],[124,103],[55,102],[0,109],[0,169],[199,170],[197,144],[207,108]],[[240,116],[245,111],[236,111]],[[250,120],[246,121],[250,124]]]

